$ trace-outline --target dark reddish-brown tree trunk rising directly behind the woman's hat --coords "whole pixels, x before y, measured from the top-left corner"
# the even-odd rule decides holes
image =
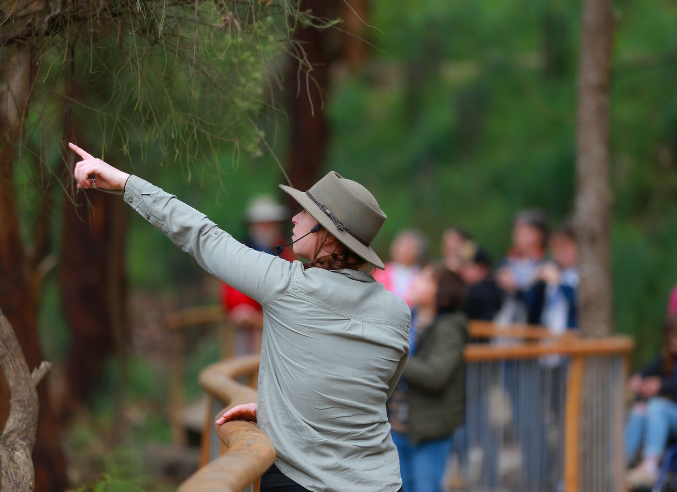
[[[326,17],[326,0],[302,0],[301,12]],[[296,39],[302,49],[292,60],[286,76],[289,94],[289,178],[295,188],[305,191],[318,179],[326,155],[327,122],[324,116],[324,91],[327,89],[327,66],[324,39],[326,30],[300,29]],[[298,207],[293,200],[290,201]]]

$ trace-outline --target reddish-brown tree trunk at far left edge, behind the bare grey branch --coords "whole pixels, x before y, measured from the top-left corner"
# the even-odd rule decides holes
[[[14,327],[28,367],[33,369],[42,361],[37,338],[37,292],[20,236],[14,202],[14,160],[35,67],[30,45],[17,43],[5,52],[7,55],[0,68],[3,84],[0,90],[0,309]],[[6,411],[9,400],[6,384],[0,385],[0,390],[5,391],[0,394],[0,401],[3,401],[0,407]],[[47,384],[41,384],[38,396],[40,411],[33,451],[35,489],[63,491],[68,485],[66,463],[59,447],[59,427],[51,416]]]

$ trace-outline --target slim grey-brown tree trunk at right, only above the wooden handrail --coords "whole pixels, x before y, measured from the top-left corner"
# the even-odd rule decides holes
[[[580,327],[583,336],[611,334],[609,261],[609,71],[611,0],[586,0],[578,86],[577,195]]]

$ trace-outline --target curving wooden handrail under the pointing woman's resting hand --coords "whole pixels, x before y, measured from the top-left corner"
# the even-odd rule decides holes
[[[200,372],[204,391],[227,405],[217,415],[235,405],[257,401],[256,390],[235,378],[255,373],[259,360],[259,354],[247,355],[211,364]],[[216,432],[227,452],[185,480],[179,492],[240,492],[274,464],[273,443],[253,422],[233,420],[217,427]]]

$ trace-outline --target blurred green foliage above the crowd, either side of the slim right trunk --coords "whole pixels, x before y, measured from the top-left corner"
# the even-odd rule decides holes
[[[573,211],[580,3],[374,1],[372,66],[337,84],[328,168],[374,190],[387,242],[465,225],[498,260],[519,208]],[[617,332],[657,351],[677,282],[677,9],[615,5],[611,86]]]

